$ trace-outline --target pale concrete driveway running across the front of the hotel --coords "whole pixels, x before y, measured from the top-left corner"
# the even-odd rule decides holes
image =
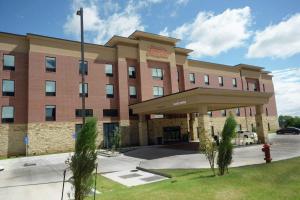
[[[300,156],[300,135],[270,135],[273,161]],[[234,149],[232,167],[264,163],[262,145]],[[0,160],[5,170],[0,172],[0,199],[53,200],[60,199],[65,160],[70,153]],[[135,169],[207,168],[204,155],[162,146],[140,147],[117,157],[98,157],[102,173]],[[29,164],[29,166],[24,166]],[[35,165],[33,165],[35,164]],[[70,174],[67,174],[67,178]],[[66,186],[66,193],[70,185]],[[65,198],[67,199],[67,198]]]

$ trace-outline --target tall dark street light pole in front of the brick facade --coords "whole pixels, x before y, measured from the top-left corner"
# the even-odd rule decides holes
[[[82,7],[77,11],[80,16],[80,33],[81,33],[81,100],[82,100],[82,125],[85,124],[85,61],[84,61],[84,37],[83,37],[83,9]]]

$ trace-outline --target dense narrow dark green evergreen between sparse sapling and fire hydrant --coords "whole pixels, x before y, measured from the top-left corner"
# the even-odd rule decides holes
[[[231,164],[232,161],[232,152],[233,152],[233,145],[231,140],[235,137],[235,128],[236,128],[236,121],[233,115],[226,119],[224,128],[222,131],[222,139],[219,145],[219,154],[218,154],[218,166],[219,166],[219,174],[222,176],[225,173],[225,170],[228,172],[228,166]]]

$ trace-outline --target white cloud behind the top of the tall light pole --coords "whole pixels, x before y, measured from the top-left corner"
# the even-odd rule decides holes
[[[84,9],[84,30],[86,41],[103,44],[113,35],[129,36],[135,30],[144,30],[140,9],[148,8],[153,4],[161,3],[162,0],[129,1],[124,8],[112,1],[100,0],[73,0],[71,14],[67,16],[64,24],[64,32],[74,35],[79,39],[80,23],[76,10]],[[100,9],[99,6],[102,6]],[[109,9],[105,9],[109,8]],[[102,11],[102,12],[101,12]]]

